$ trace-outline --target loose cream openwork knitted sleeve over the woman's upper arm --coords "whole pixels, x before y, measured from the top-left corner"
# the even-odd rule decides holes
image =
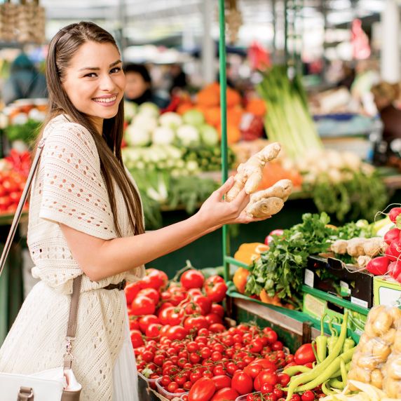
[[[39,217],[104,240],[116,238],[100,160],[90,132],[79,124],[65,123],[45,137]]]

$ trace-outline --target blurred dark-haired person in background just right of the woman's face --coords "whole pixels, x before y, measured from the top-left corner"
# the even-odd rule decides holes
[[[125,73],[125,100],[142,104],[151,102],[161,109],[168,106],[169,100],[159,97],[152,88],[151,76],[143,64],[126,64]]]

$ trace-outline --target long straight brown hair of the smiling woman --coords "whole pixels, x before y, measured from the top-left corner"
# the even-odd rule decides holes
[[[100,169],[106,184],[107,193],[114,216],[114,228],[121,237],[121,229],[117,221],[114,182],[121,189],[128,210],[130,226],[135,234],[144,233],[142,206],[140,196],[125,173],[121,158],[121,141],[123,139],[124,105],[118,105],[118,112],[113,118],[103,121],[102,136],[99,135],[90,117],[81,113],[72,104],[62,88],[65,70],[69,67],[76,51],[88,41],[111,43],[116,45],[113,36],[93,22],[79,22],[60,29],[50,41],[46,60],[46,81],[48,86],[48,114],[41,128],[43,130],[51,118],[59,114],[67,114],[72,121],[83,125],[95,141],[100,158]]]

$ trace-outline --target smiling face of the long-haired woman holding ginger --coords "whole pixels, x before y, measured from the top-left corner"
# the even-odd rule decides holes
[[[121,55],[111,43],[86,42],[67,68],[62,88],[74,107],[93,119],[102,132],[103,119],[116,116],[124,95]]]

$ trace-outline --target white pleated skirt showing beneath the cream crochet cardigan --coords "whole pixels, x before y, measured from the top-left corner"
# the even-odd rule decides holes
[[[125,313],[125,337],[116,365],[114,365],[113,381],[113,401],[140,401],[138,396],[137,364],[131,343],[128,313]]]

